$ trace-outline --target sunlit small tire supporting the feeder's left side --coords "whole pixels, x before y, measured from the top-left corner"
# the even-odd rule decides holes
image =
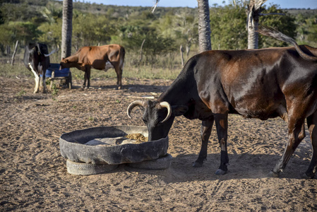
[[[97,175],[114,170],[118,165],[109,165],[107,163],[77,163],[71,160],[66,161],[67,172],[71,175]]]

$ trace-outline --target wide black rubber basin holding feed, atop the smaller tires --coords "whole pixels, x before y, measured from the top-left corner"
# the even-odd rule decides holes
[[[168,136],[155,141],[126,143],[121,145],[85,145],[96,138],[116,138],[127,134],[140,133],[148,136],[146,126],[98,126],[71,131],[59,138],[61,155],[71,161],[92,164],[107,163],[140,163],[144,160],[155,160],[167,154]]]

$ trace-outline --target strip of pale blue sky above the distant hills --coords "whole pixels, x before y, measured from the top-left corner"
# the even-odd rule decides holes
[[[153,6],[154,0],[77,0],[77,1],[85,1],[96,4],[111,4],[116,6]],[[236,0],[241,1],[241,0]],[[249,0],[248,0],[249,1]],[[213,4],[218,4],[223,6],[223,0],[209,0],[209,6],[213,6]],[[230,0],[226,0],[226,3],[232,2]],[[280,5],[280,8],[317,8],[317,0],[268,0],[265,2],[266,6],[270,6],[270,4]],[[183,6],[183,7],[197,7],[196,0],[160,0],[160,3],[157,6]]]

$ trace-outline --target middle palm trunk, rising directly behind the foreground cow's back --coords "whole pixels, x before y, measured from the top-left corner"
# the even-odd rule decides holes
[[[211,50],[210,14],[208,0],[198,0],[199,52]]]

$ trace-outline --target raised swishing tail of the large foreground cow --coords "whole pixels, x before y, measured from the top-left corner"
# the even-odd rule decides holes
[[[283,33],[280,33],[279,31],[275,30],[274,28],[270,28],[268,26],[259,26],[258,28],[258,33],[261,33],[262,35],[268,36],[268,37],[273,37],[277,40],[282,40],[284,42],[288,42],[292,45],[294,45],[295,49],[297,50],[297,52],[299,53],[299,55],[308,60],[308,61],[317,61],[317,57],[313,57],[310,56],[308,54],[306,54],[305,52],[303,52],[303,50],[301,50],[301,48],[299,47],[299,45],[297,44],[297,42],[292,39],[291,37],[288,37],[287,35],[284,35]]]

